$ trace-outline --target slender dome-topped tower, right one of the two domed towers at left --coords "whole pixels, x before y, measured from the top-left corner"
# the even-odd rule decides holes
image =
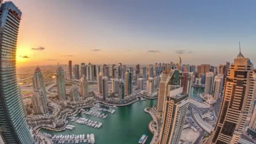
[[[66,100],[66,86],[65,86],[65,77],[64,77],[64,69],[59,66],[57,68],[57,91],[59,100],[65,101]]]

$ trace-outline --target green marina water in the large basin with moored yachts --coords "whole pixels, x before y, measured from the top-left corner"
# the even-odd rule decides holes
[[[103,123],[99,129],[77,124],[68,119],[69,124],[75,126],[73,130],[55,132],[41,129],[41,132],[47,132],[52,135],[87,135],[88,133],[93,133],[96,144],[137,144],[141,136],[146,134],[149,136],[146,144],[149,144],[153,134],[149,131],[148,124],[152,117],[144,112],[144,108],[153,107],[155,104],[157,104],[156,99],[139,100],[128,106],[118,107],[114,114],[101,111],[101,113],[108,115],[106,119],[85,114],[77,115],[78,117],[85,117]],[[91,110],[97,111],[96,109]]]

